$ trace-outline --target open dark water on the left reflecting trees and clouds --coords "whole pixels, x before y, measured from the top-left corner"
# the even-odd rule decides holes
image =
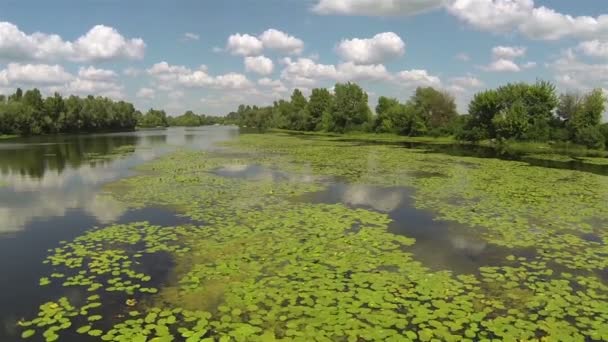
[[[131,175],[133,167],[176,148],[215,149],[215,143],[236,135],[235,128],[209,127],[2,141],[0,182],[6,186],[0,186],[0,341],[19,340],[15,322],[35,315],[39,304],[61,290],[38,285],[49,271],[42,264],[47,250],[59,241],[110,223],[191,223],[160,208],[125,211],[98,195],[103,184]],[[157,258],[146,263],[155,267],[147,272],[162,279],[169,261]]]

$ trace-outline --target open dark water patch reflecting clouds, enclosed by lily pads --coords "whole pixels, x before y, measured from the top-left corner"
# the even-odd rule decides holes
[[[513,250],[488,244],[473,231],[454,222],[436,220],[431,211],[416,209],[413,191],[402,187],[331,184],[326,190],[305,195],[314,203],[343,203],[387,213],[391,232],[416,239],[407,248],[416,260],[435,270],[477,273],[479,267],[498,265]]]

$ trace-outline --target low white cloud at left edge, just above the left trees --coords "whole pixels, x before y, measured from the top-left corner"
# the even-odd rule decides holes
[[[73,79],[74,76],[60,65],[9,63],[0,70],[0,84],[4,85],[56,85]]]

